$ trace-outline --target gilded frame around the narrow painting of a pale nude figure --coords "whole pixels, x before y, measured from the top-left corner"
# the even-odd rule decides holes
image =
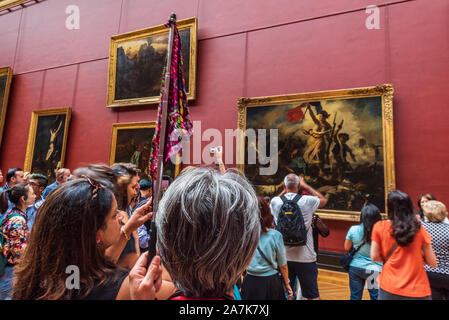
[[[47,109],[47,110],[36,110],[31,114],[31,123],[30,130],[28,134],[28,143],[27,143],[27,151],[25,154],[25,164],[24,170],[31,172],[31,166],[33,164],[34,157],[34,146],[36,143],[36,130],[37,124],[39,121],[39,117],[43,116],[54,116],[54,115],[65,115],[65,123],[64,123],[64,137],[62,143],[62,152],[61,152],[61,168],[64,168],[65,154],[67,148],[67,138],[69,136],[69,125],[70,118],[72,115],[71,108],[59,108],[59,109]]]

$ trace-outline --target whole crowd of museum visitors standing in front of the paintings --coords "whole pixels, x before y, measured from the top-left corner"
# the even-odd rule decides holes
[[[295,174],[279,196],[257,197],[216,157],[219,170],[185,168],[157,212],[153,181],[133,164],[62,168],[54,182],[9,169],[0,189],[0,299],[320,299],[318,236],[330,230],[316,211],[327,199]],[[366,203],[347,232],[350,299],[365,288],[372,300],[449,299],[445,205],[424,194],[415,211],[395,190],[387,208],[384,219]],[[150,221],[158,253],[148,261]]]

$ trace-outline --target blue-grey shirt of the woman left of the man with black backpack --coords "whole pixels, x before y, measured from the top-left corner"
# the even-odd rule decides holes
[[[274,229],[269,229],[260,236],[259,249],[263,252],[265,257],[270,260],[267,262],[256,250],[251,264],[246,270],[248,274],[258,277],[268,277],[277,273],[279,266],[287,264],[287,257],[285,256],[285,247],[282,234]],[[276,269],[275,269],[276,268]]]

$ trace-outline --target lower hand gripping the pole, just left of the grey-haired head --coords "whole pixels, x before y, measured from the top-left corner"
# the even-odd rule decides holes
[[[129,273],[131,300],[154,300],[162,285],[161,258],[155,256],[147,270],[148,252],[142,254]]]

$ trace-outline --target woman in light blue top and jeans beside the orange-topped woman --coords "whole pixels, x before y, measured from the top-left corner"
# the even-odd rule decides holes
[[[373,204],[367,204],[360,213],[360,224],[352,226],[345,240],[345,250],[352,246],[360,249],[354,255],[349,265],[349,288],[351,300],[361,300],[365,282],[368,281],[368,292],[371,300],[377,300],[377,276],[382,271],[382,263],[373,262],[370,257],[371,232],[377,221],[382,220],[379,209]]]

